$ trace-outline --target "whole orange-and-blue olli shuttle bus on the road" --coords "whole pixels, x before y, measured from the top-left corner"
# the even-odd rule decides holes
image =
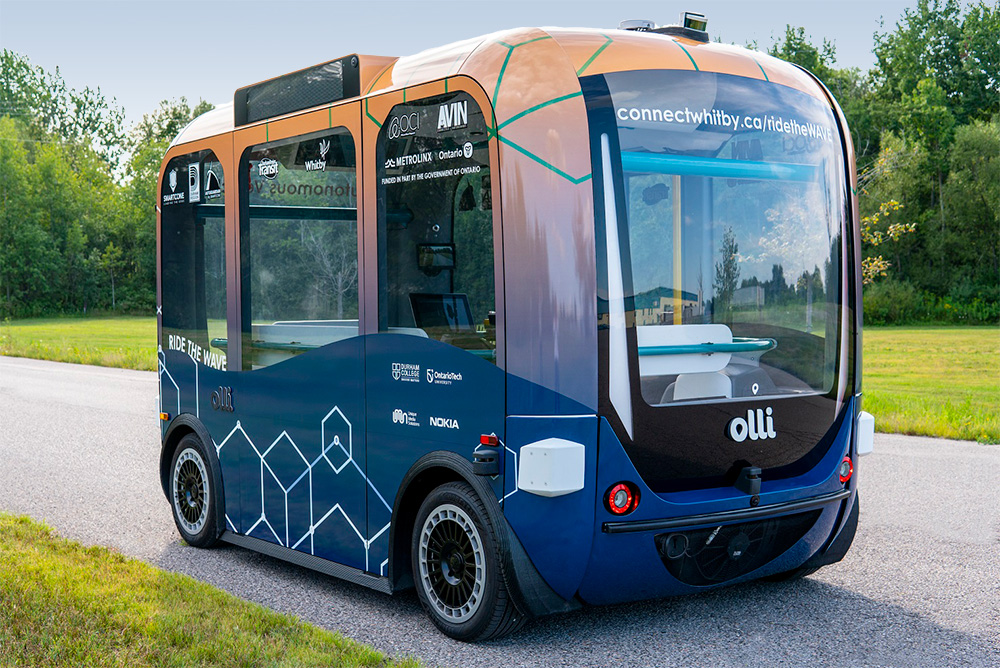
[[[177,136],[188,543],[415,587],[464,640],[843,558],[874,428],[850,135],[808,72],[685,24],[349,55]]]

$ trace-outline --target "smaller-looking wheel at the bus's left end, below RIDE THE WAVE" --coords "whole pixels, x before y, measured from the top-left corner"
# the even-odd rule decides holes
[[[212,547],[221,534],[216,515],[222,490],[212,473],[201,439],[184,436],[170,462],[170,508],[177,531],[194,547]]]

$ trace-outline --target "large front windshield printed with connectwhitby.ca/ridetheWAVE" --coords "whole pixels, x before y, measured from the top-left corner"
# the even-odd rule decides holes
[[[624,308],[643,400],[829,392],[846,197],[830,106],[731,75],[605,80],[617,151],[607,145],[624,185],[617,216],[627,219],[627,236],[620,222],[617,234]]]

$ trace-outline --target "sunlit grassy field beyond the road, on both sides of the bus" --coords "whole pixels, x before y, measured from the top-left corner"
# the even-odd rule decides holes
[[[0,323],[0,354],[156,369],[156,320]],[[865,329],[865,409],[884,432],[1000,443],[1000,329]]]

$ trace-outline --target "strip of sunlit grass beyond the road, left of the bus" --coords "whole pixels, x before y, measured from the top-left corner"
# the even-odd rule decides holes
[[[35,318],[0,322],[0,355],[156,370],[156,318]]]

